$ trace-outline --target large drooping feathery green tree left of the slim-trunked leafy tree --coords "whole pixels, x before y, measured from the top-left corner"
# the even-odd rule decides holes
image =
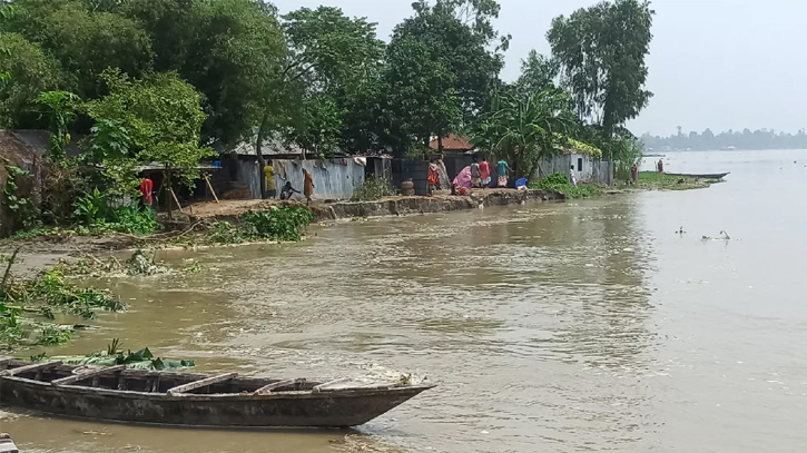
[[[270,3],[139,0],[118,10],[148,31],[156,71],[177,71],[205,96],[204,142],[233,145],[249,136],[287,52]]]

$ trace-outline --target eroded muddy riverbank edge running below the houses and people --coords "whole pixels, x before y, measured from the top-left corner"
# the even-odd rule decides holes
[[[653,190],[693,190],[709,188],[719,181],[665,178],[666,183],[642,181],[638,185],[610,186],[601,188],[602,194],[588,199],[601,198],[624,194],[636,194]],[[675,179],[675,180],[673,180]],[[371,201],[332,201],[314,203],[308,208],[315,216],[315,223],[328,224],[339,220],[357,218],[380,218],[426,215],[439,213],[451,213],[457,210],[472,210],[486,206],[513,206],[525,205],[526,203],[563,203],[569,199],[561,191],[543,189],[472,189],[465,196],[434,195],[422,196],[391,196]],[[40,236],[22,240],[2,239],[3,254],[11,255],[14,249],[20,248],[19,260],[14,265],[18,277],[35,275],[38,272],[55,266],[59,260],[76,259],[81,256],[101,256],[116,252],[134,252],[137,248],[146,249],[187,249],[187,248],[213,248],[229,247],[234,244],[179,244],[174,242],[170,234],[193,233],[205,235],[205,228],[219,221],[228,221],[233,225],[242,223],[240,217],[249,210],[267,210],[272,207],[301,207],[305,206],[299,201],[282,201],[268,199],[248,200],[222,200],[203,201],[189,205],[184,209],[186,213],[175,213],[175,218],[165,220],[164,233],[149,236],[135,236],[112,233],[105,236],[79,236],[65,229],[63,235]],[[200,230],[195,227],[201,225]],[[255,244],[268,244],[255,243]],[[247,245],[247,244],[236,244]],[[8,252],[8,253],[7,253]]]

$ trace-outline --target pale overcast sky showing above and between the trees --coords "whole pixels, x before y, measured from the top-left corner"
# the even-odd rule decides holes
[[[591,0],[499,0],[496,27],[511,33],[502,77],[518,77],[530,49],[548,53],[553,17]],[[412,14],[412,0],[274,0],[282,13],[303,6],[339,7],[347,16],[392,29]],[[807,0],[655,0],[648,88],[656,96],[629,127],[669,135],[711,128],[807,127]]]

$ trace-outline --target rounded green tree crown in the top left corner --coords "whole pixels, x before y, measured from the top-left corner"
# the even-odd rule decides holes
[[[70,76],[67,89],[82,99],[104,93],[99,76],[119,68],[131,77],[151,70],[151,46],[140,26],[125,17],[90,11],[75,0],[18,0],[9,23],[31,42],[53,55]]]

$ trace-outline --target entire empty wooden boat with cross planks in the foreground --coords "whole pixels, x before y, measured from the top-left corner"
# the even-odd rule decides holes
[[[433,385],[338,386],[239,377],[0,361],[0,403],[69,417],[208,427],[348,427]]]

